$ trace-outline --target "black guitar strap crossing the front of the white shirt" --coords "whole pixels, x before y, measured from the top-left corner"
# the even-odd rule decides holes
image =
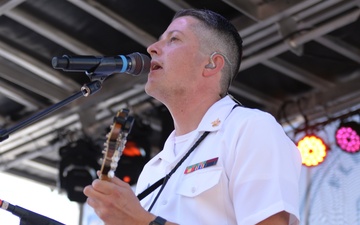
[[[240,106],[240,104],[236,104],[234,105],[234,107],[232,108],[232,110],[234,108],[236,108],[237,106]],[[231,111],[232,111],[231,110]],[[151,203],[148,211],[150,212],[151,209],[153,208],[153,206],[155,205],[157,199],[159,198],[162,190],[164,189],[166,183],[168,182],[168,180],[170,179],[170,177],[175,173],[175,171],[181,166],[181,164],[187,159],[187,157],[189,157],[189,155],[195,150],[195,148],[205,139],[205,137],[209,134],[209,131],[205,131],[200,138],[195,142],[195,144],[189,149],[189,151],[181,158],[181,160],[176,164],[176,166],[167,174],[165,175],[163,178],[159,179],[158,181],[156,181],[155,183],[153,183],[150,187],[148,187],[147,189],[145,189],[143,192],[141,192],[140,194],[137,195],[137,198],[139,199],[139,201],[141,201],[142,199],[144,199],[146,196],[148,196],[151,192],[155,191],[160,185],[161,189],[159,190],[159,192],[157,193],[154,201]]]

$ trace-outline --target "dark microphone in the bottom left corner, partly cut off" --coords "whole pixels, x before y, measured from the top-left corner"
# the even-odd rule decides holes
[[[0,199],[0,207],[20,217],[21,225],[65,225],[46,216],[37,214],[17,205],[12,205]]]

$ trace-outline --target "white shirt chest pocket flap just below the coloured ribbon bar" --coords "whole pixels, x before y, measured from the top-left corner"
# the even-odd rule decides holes
[[[211,168],[185,174],[177,193],[185,197],[200,195],[219,183],[221,173],[221,168]]]

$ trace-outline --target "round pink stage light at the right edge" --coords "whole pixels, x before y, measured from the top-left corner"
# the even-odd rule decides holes
[[[355,153],[360,150],[360,125],[347,122],[340,125],[335,133],[337,145],[344,151]]]

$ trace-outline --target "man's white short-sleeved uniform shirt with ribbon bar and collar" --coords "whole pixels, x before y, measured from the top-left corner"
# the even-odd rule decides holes
[[[174,132],[144,167],[139,194],[168,174],[205,131],[209,135],[171,176],[151,213],[179,224],[252,225],[280,212],[299,224],[301,157],[268,113],[226,96],[206,112],[174,154]],[[157,188],[141,201],[148,209]]]

